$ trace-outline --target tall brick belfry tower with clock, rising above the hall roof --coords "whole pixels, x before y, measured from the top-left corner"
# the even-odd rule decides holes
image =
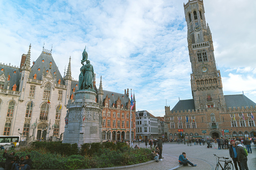
[[[226,107],[220,71],[214,58],[212,34],[205,21],[201,0],[184,4],[188,26],[188,48],[192,66],[191,90],[195,109]]]

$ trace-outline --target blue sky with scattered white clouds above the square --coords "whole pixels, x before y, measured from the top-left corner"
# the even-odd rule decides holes
[[[164,115],[192,99],[184,0],[3,1],[0,0],[1,63],[20,66],[31,43],[31,61],[51,50],[61,72],[71,56],[78,79],[86,46],[96,85],[132,89],[136,111]],[[204,0],[224,95],[256,102],[256,1]]]

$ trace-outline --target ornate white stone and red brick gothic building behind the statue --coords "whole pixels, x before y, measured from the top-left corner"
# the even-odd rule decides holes
[[[22,55],[20,67],[0,63],[0,135],[21,135],[24,140],[27,136],[30,140],[61,138],[66,105],[75,100],[74,93],[78,90],[78,81],[71,77],[71,57],[62,77],[52,50],[43,47],[32,65],[30,50],[31,46],[28,53]],[[97,89],[95,77],[96,74],[93,84],[96,100],[102,106],[104,139],[127,139],[130,133],[128,89],[125,94],[106,91],[102,81]],[[135,107],[133,114],[134,110]],[[135,128],[133,123],[132,127]]]

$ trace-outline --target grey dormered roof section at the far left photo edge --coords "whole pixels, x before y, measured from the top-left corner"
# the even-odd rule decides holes
[[[1,71],[4,69],[4,71]],[[16,71],[16,73],[14,73]],[[16,84],[17,88],[16,91],[19,90],[20,79],[21,79],[21,69],[18,67],[8,66],[4,64],[0,64],[0,76],[4,73],[6,77],[6,81],[8,80],[8,75],[10,75],[10,87],[7,90],[13,90],[13,85]],[[5,87],[7,88],[7,86]]]

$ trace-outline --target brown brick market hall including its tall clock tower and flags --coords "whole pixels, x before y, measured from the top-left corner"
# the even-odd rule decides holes
[[[188,49],[192,66],[193,99],[180,100],[170,110],[165,106],[170,139],[192,136],[256,136],[252,115],[256,103],[243,94],[224,95],[220,70],[214,58],[212,33],[205,20],[201,0],[184,4],[188,27]],[[204,133],[203,133],[204,132]]]

